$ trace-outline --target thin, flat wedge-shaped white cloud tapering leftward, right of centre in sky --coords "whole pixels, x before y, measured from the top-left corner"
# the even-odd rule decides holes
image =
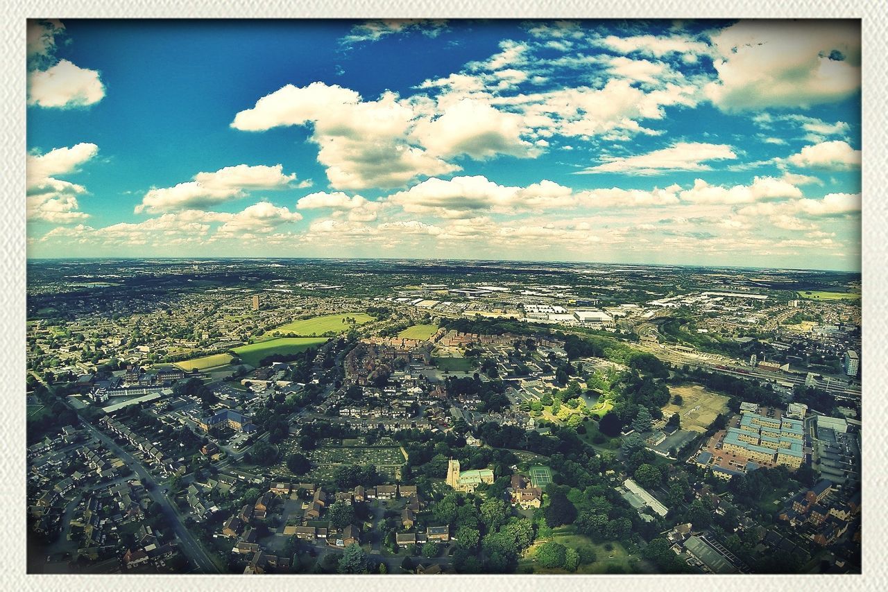
[[[633,172],[639,175],[658,175],[666,170],[710,170],[711,167],[703,162],[736,158],[737,155],[733,153],[731,146],[725,144],[678,142],[648,154],[608,157],[607,162],[574,174]]]

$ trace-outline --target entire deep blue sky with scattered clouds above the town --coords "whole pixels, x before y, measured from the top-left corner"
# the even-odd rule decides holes
[[[30,258],[860,270],[858,21],[27,34]]]

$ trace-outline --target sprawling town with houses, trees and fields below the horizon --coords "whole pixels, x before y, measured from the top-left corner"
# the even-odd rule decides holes
[[[860,273],[28,264],[28,570],[859,573]]]

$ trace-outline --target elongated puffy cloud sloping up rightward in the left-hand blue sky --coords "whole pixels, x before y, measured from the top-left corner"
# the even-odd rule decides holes
[[[149,190],[136,206],[137,214],[157,214],[176,209],[193,209],[232,201],[255,190],[286,189],[296,174],[285,175],[283,166],[238,164],[215,172],[200,172],[194,180],[172,187]]]

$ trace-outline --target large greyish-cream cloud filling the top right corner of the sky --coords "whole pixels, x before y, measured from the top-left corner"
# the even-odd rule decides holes
[[[745,20],[712,36],[718,82],[706,94],[725,111],[809,107],[860,89],[860,23]]]

